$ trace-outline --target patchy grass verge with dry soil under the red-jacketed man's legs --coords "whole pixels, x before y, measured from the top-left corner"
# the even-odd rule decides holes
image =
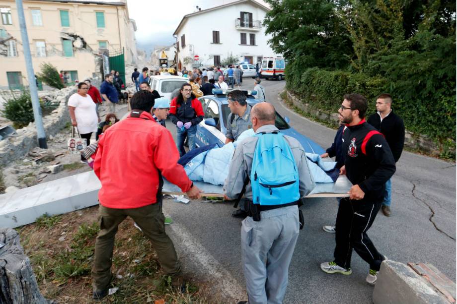
[[[97,207],[61,216],[42,216],[16,229],[29,256],[43,296],[57,303],[93,303],[90,271],[98,234]],[[65,239],[63,239],[65,237]],[[59,238],[61,241],[59,241]],[[143,304],[163,299],[167,304],[217,304],[206,285],[193,280],[187,292],[170,287],[151,242],[127,219],[119,225],[113,254],[110,288],[119,290],[102,304]]]

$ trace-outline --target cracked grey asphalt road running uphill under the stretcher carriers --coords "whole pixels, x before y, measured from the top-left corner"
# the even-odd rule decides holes
[[[290,124],[326,148],[335,130],[311,122],[278,100],[285,81],[262,81],[268,101]],[[244,79],[243,88],[253,88]],[[167,122],[175,134],[175,127]],[[175,135],[173,135],[175,136]],[[240,220],[229,203],[166,200],[164,212],[174,223],[167,227],[185,271],[207,282],[215,295],[232,303],[245,298],[240,263]],[[355,252],[350,276],[326,274],[319,264],[333,258],[334,235],[322,231],[335,221],[334,198],[306,199],[301,231],[290,267],[284,303],[372,303],[373,287],[365,282],[369,266]],[[456,165],[403,152],[392,180],[392,216],[378,214],[368,234],[378,250],[402,263],[427,262],[456,280]],[[230,300],[229,300],[230,299]],[[236,303],[236,302],[234,302]]]

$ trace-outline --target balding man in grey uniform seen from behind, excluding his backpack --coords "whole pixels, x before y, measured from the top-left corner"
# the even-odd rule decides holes
[[[275,108],[271,104],[256,104],[251,110],[254,131],[257,134],[278,132],[275,117]],[[290,146],[297,165],[299,191],[303,197],[314,187],[305,151],[296,139],[289,136],[284,136],[284,139]],[[237,145],[224,185],[226,199],[237,197],[242,192],[244,182],[251,175],[257,140],[258,137],[251,136]],[[246,185],[244,195],[252,200],[250,182]],[[262,207],[272,206],[260,206],[260,221],[248,216],[242,221],[241,227],[241,257],[248,301],[249,304],[281,304],[299,235],[299,209],[297,204],[276,205],[275,208],[267,209]]]

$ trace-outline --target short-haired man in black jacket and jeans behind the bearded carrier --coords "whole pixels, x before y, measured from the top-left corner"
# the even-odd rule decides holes
[[[376,99],[377,113],[370,115],[367,122],[377,128],[389,144],[395,163],[398,162],[405,144],[405,124],[401,117],[392,111],[392,96],[381,94]],[[392,200],[391,179],[385,183],[384,200],[381,211],[385,216],[390,216],[390,203]]]

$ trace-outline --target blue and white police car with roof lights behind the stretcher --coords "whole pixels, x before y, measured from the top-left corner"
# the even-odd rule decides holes
[[[248,105],[254,106],[256,103],[262,102],[254,98],[257,94],[256,91],[243,92],[246,95]],[[202,103],[203,113],[205,114],[203,121],[197,125],[195,142],[199,147],[213,143],[217,143],[218,146],[222,147],[226,142],[225,134],[230,114],[226,90],[213,89],[213,94],[214,95],[206,95],[199,98]],[[288,122],[289,119],[287,117],[282,118],[281,115],[276,112],[275,125],[281,133],[297,139],[305,148],[305,152],[316,154],[325,153],[325,150],[321,146],[297,132]]]

